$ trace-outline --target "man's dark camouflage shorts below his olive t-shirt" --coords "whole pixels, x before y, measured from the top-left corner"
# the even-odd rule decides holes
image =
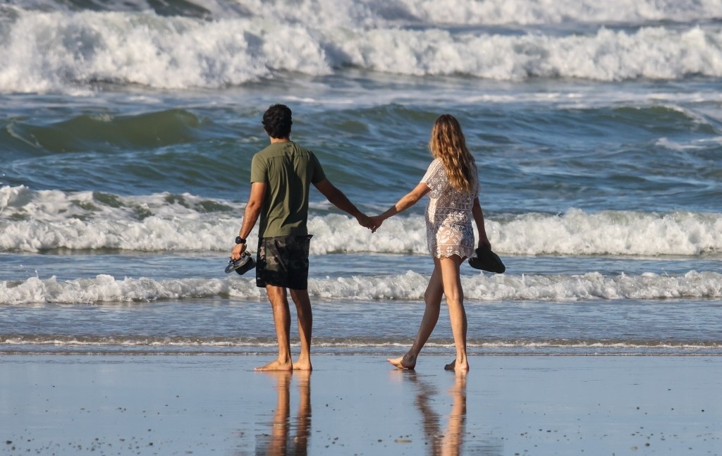
[[[308,247],[306,236],[262,237],[256,254],[256,286],[266,284],[295,290],[308,289]]]

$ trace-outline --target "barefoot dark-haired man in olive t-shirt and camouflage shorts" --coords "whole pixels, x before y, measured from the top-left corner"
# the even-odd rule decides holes
[[[251,161],[251,195],[231,258],[240,258],[246,237],[260,216],[256,286],[266,289],[271,302],[278,358],[256,370],[310,370],[313,315],[308,298],[308,247],[311,236],[306,228],[310,184],[334,206],[354,216],[362,227],[371,228],[373,222],[326,179],[313,152],[290,140],[292,120],[287,106],[272,105],[264,113],[263,124],[271,145]],[[295,363],[291,360],[291,319],[286,289],[296,304],[298,319],[301,352]]]

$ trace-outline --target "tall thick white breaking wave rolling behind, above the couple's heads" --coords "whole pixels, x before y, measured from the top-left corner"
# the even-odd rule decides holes
[[[331,4],[320,9],[326,8]],[[417,14],[431,10],[430,3],[415,8]],[[377,23],[356,17],[361,14],[357,6],[349,6],[352,17],[342,14],[324,22],[321,18],[339,15],[335,7],[330,15],[318,14],[318,9],[294,6],[289,10],[295,12],[280,20],[240,14],[209,21],[147,11],[16,8],[0,20],[0,91],[82,92],[106,82],[159,89],[223,88],[287,72],[328,75],[349,66],[504,81],[722,76],[722,31],[714,23],[497,31],[479,25]],[[487,14],[477,13],[477,20]],[[309,22],[308,17],[321,20]]]

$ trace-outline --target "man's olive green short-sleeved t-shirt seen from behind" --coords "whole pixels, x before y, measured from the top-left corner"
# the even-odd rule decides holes
[[[251,183],[266,184],[258,237],[308,234],[310,184],[326,179],[316,155],[295,142],[273,143],[251,160]]]

